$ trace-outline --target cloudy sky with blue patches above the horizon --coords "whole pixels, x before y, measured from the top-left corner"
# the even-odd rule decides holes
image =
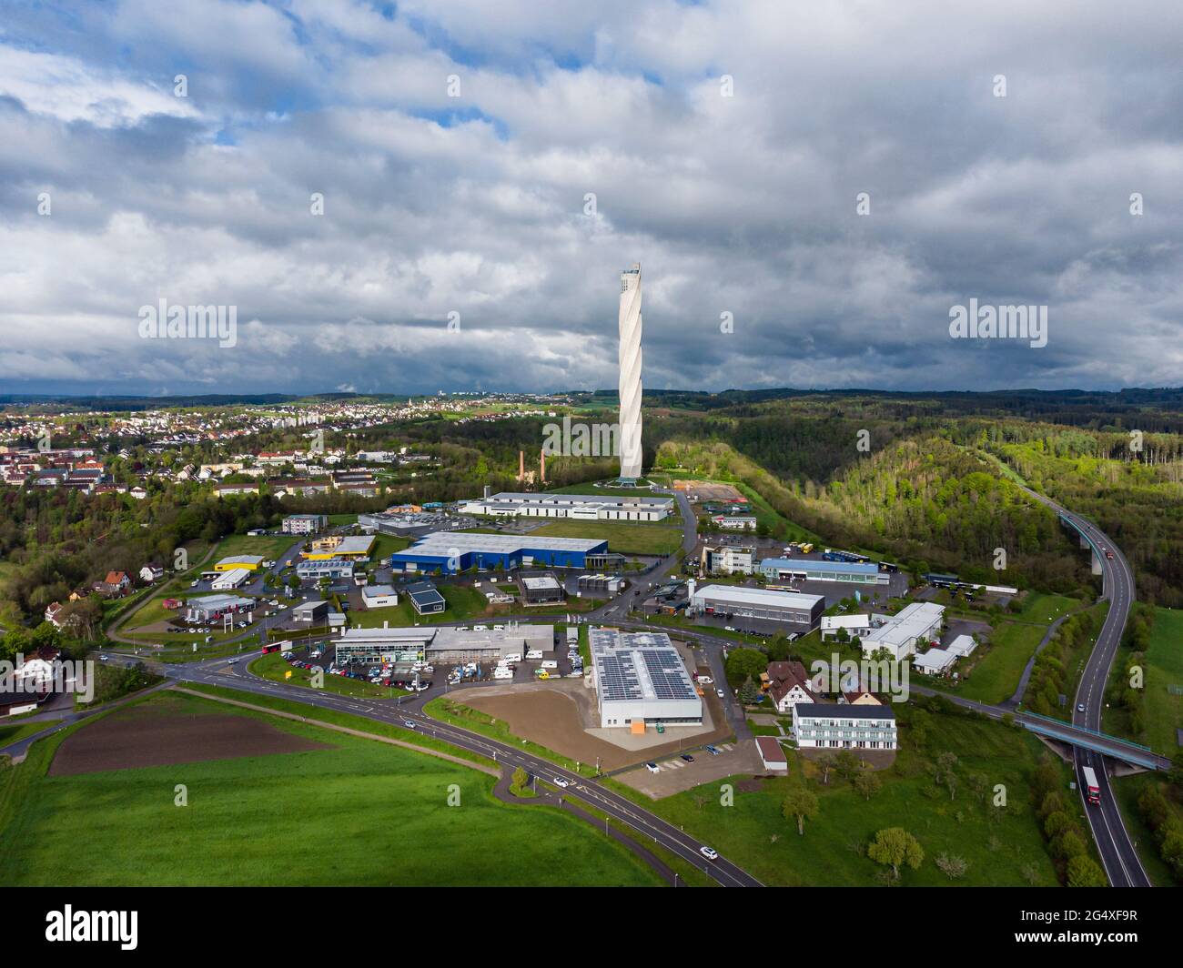
[[[2,393],[1183,383],[1177,0],[0,11]]]

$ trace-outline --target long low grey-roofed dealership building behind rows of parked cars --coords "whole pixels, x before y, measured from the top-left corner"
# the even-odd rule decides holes
[[[366,664],[414,662],[497,662],[530,651],[551,652],[552,625],[508,625],[505,628],[347,628],[337,640],[337,662]]]

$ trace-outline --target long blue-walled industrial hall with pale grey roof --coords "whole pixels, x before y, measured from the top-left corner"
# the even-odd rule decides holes
[[[534,564],[586,568],[588,555],[607,550],[608,542],[596,538],[437,531],[390,555],[390,569],[452,575],[470,568],[529,568]]]

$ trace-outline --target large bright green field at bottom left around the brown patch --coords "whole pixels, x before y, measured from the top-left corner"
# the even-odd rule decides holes
[[[198,730],[212,714],[263,717],[331,748],[50,777],[59,734],[0,781],[5,884],[659,883],[574,818],[494,800],[492,777],[466,767],[190,696],[147,702]]]

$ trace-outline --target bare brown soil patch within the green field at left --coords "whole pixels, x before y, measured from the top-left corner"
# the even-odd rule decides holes
[[[131,708],[69,736],[50,764],[50,776],[330,748],[250,716],[194,716]]]

